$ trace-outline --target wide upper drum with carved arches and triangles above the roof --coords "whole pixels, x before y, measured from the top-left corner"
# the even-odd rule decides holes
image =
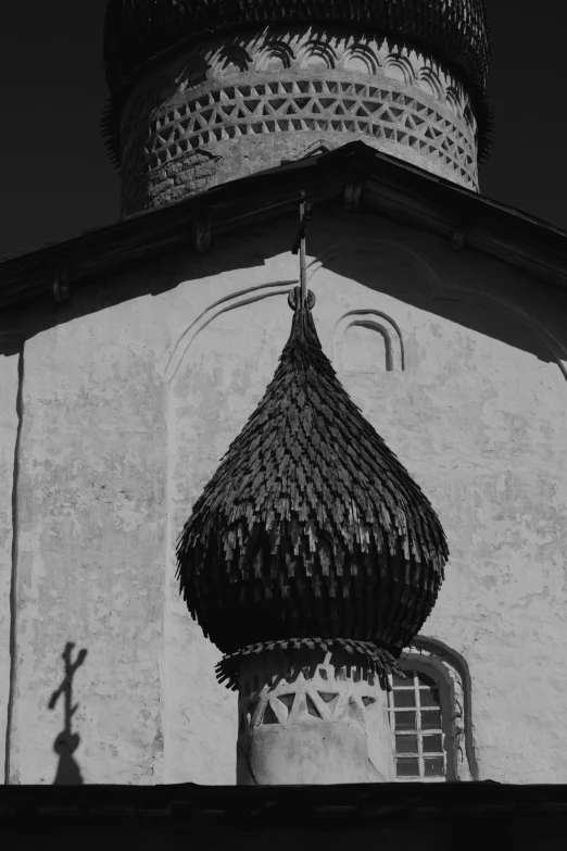
[[[131,93],[123,212],[176,201],[353,139],[477,190],[466,92],[404,46],[266,28],[187,48]]]

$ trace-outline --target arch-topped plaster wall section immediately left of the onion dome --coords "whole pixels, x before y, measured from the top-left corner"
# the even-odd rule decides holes
[[[169,690],[168,729],[176,754],[167,766],[172,783],[187,779],[188,766],[200,783],[234,784],[236,778],[237,696],[217,685],[214,665],[222,654],[204,646],[179,598],[175,539],[274,375],[291,313],[281,303],[270,306],[260,302],[220,315],[197,335],[171,379],[167,647],[175,687]],[[191,733],[196,726],[201,734],[198,750]]]

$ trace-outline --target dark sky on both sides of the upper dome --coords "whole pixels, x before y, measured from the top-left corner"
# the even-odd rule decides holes
[[[0,256],[118,217],[99,133],[105,0],[0,9]],[[488,0],[495,140],[481,191],[567,230],[565,0]]]

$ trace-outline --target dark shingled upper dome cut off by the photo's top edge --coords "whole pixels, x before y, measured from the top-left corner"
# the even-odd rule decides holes
[[[490,62],[483,0],[109,0],[106,78],[114,93],[159,53],[238,26],[307,21],[371,27],[431,52],[482,95]]]

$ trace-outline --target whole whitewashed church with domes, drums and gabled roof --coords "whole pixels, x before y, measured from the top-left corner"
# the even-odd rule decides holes
[[[482,195],[483,0],[109,0],[104,61],[119,220],[0,263],[5,784],[564,784],[567,234]]]

